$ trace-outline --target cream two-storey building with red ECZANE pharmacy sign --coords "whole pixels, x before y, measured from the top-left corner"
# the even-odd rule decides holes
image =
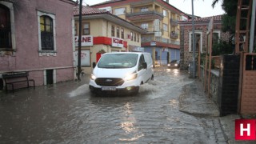
[[[75,60],[78,59],[78,6],[74,7]],[[81,65],[86,74],[91,74],[92,63],[98,62],[106,52],[144,51],[141,35],[146,30],[119,18],[106,10],[89,6],[82,7],[82,55]]]

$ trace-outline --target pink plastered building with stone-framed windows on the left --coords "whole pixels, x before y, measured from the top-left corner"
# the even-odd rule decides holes
[[[2,74],[29,72],[36,86],[74,79],[72,0],[0,1]]]

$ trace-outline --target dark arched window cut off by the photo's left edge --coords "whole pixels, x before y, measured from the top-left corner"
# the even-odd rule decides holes
[[[0,49],[11,49],[10,10],[0,4]]]

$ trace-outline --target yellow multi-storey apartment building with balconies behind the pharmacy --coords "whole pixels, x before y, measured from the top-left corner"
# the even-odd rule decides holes
[[[180,58],[178,21],[186,18],[169,0],[112,0],[92,6],[110,11],[147,30],[142,34],[142,47],[158,64]]]

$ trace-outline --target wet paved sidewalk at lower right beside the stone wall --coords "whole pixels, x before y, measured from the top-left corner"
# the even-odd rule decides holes
[[[214,118],[221,126],[223,141],[226,143],[255,143],[255,141],[235,141],[234,122],[242,118],[238,114],[219,117],[218,106],[208,98],[202,89],[202,83],[196,79],[194,82],[182,87],[179,97],[179,110],[198,117]]]

